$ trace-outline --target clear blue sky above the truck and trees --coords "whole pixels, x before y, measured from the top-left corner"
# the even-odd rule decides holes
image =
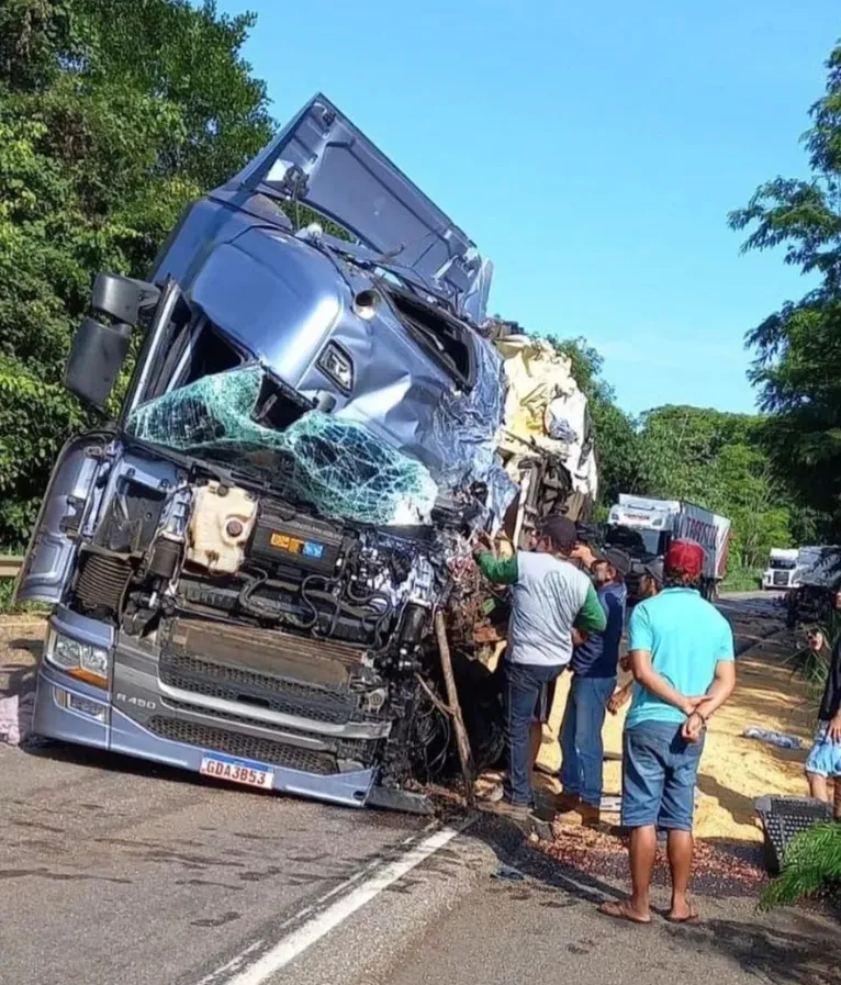
[[[744,332],[806,284],[726,216],[806,172],[837,0],[218,7],[279,121],[324,91],[494,260],[494,312],[585,336],[632,413],[753,407]]]

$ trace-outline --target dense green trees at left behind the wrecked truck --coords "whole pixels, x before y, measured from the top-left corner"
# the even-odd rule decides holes
[[[270,137],[254,16],[188,0],[0,4],[0,544],[83,421],[61,387],[96,273],[144,277],[191,200]]]

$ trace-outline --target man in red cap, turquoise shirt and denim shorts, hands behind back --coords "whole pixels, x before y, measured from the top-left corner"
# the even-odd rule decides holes
[[[631,897],[602,913],[651,921],[649,888],[658,828],[668,832],[673,924],[697,920],[688,900],[695,783],[707,721],[736,684],[733,634],[700,597],[704,548],[674,540],[663,591],[641,602],[629,627],[633,698],[625,723],[621,824],[630,830]]]

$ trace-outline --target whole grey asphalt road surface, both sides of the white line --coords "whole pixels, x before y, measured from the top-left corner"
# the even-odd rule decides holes
[[[765,600],[727,604],[737,631],[762,635]],[[617,886],[536,861],[498,821],[429,829],[65,747],[0,746],[0,985],[630,985],[640,960],[651,982],[686,973],[673,928],[640,944],[594,915]],[[501,861],[527,878],[495,878]],[[754,965],[836,981],[841,955],[809,956],[819,926],[785,930],[803,960],[772,974],[762,955],[784,931],[756,930],[744,900],[716,906],[717,934],[686,940],[722,982]]]

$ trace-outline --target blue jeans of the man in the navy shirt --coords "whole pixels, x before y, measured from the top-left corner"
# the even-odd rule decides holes
[[[565,794],[602,803],[605,747],[602,729],[616,678],[572,679],[561,725],[561,783]]]

